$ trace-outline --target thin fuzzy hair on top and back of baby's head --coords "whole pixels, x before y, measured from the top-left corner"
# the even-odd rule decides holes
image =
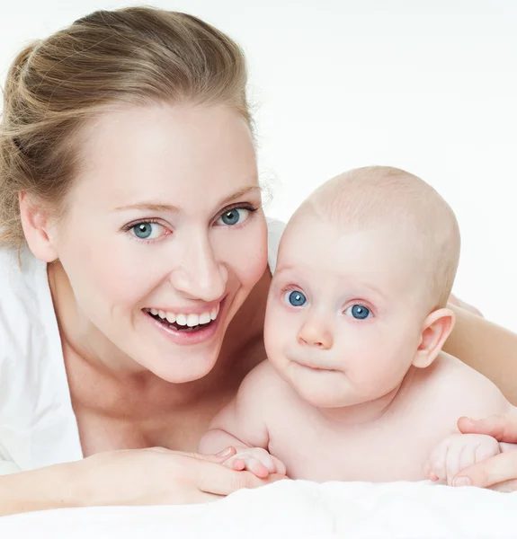
[[[362,167],[325,182],[306,204],[346,227],[404,227],[407,247],[422,271],[426,308],[447,305],[459,263],[459,225],[431,185],[395,167]]]

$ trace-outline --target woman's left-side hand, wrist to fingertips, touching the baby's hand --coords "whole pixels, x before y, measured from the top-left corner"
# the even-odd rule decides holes
[[[283,479],[272,474],[263,480],[221,464],[235,452],[231,447],[219,455],[201,455],[156,447],[99,453],[67,464],[71,505],[202,503]]]

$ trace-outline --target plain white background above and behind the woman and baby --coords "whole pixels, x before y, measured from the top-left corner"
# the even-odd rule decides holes
[[[366,164],[406,168],[455,209],[456,292],[517,331],[517,2],[155,0],[245,49],[272,216]],[[102,0],[0,0],[0,76],[24,43]]]

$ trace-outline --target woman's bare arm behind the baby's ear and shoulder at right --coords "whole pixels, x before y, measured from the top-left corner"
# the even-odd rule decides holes
[[[481,316],[449,305],[456,324],[443,350],[486,376],[517,404],[517,335]]]

